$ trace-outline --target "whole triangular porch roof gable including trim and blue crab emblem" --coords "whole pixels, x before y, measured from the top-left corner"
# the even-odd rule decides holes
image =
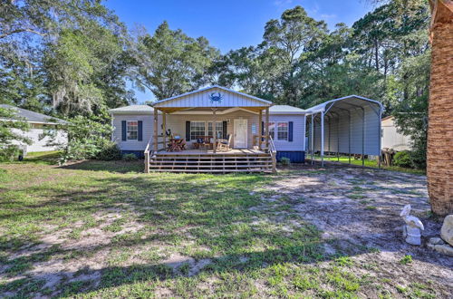
[[[266,101],[218,85],[209,86],[195,92],[183,93],[165,100],[156,101],[153,104],[154,108],[169,113],[193,108],[226,107],[240,107],[249,111],[261,111],[270,106],[272,106],[272,101]]]

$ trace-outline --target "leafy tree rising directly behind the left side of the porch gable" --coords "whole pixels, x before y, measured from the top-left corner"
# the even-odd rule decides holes
[[[218,55],[206,38],[188,37],[164,22],[154,35],[138,36],[134,59],[139,87],[159,100],[197,89]]]

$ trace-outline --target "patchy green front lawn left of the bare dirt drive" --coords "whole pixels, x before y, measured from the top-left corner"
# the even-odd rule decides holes
[[[381,292],[264,188],[291,171],[146,175],[142,161],[57,167],[53,154],[0,164],[0,297]]]

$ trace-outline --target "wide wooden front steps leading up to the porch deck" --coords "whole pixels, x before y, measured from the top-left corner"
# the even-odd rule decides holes
[[[149,159],[154,172],[272,172],[273,159],[268,153],[156,154]]]

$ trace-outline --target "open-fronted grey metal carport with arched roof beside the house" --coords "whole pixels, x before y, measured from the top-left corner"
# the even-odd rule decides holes
[[[380,101],[374,101],[358,95],[349,95],[306,110],[309,127],[308,152],[312,163],[314,153],[321,153],[324,164],[324,152],[348,154],[351,163],[352,154],[378,156],[381,167],[381,115],[384,108]]]

